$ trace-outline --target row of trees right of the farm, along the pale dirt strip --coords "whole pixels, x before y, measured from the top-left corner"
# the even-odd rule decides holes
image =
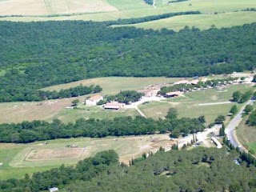
[[[221,85],[226,85],[233,83],[233,81],[236,78],[226,78],[226,79],[212,79],[212,80],[207,80],[206,82],[198,82],[198,84],[178,84],[178,85],[173,85],[173,86],[162,86],[161,90],[158,91],[158,94],[165,95],[168,92],[172,91],[190,91],[193,90],[194,88],[208,88],[208,87],[215,87],[215,86],[221,86]],[[231,81],[231,82],[230,82]]]

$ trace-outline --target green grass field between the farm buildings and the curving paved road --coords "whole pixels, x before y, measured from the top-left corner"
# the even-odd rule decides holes
[[[206,124],[209,124],[210,122],[214,122],[214,119],[219,114],[228,114],[231,106],[242,106],[238,103],[228,103],[236,90],[244,93],[246,90],[254,90],[254,87],[249,85],[232,85],[226,86],[223,90],[199,90],[184,94],[183,97],[168,98],[161,102],[150,102],[149,104],[138,107],[147,117],[155,119],[164,118],[170,107],[174,107],[178,110],[178,116],[180,118],[198,118],[199,116],[205,115]],[[214,103],[218,102],[220,103],[214,105]]]

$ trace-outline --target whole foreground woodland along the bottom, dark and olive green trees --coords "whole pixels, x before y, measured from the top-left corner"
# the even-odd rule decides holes
[[[26,174],[0,181],[0,191],[255,191],[256,167],[242,161],[237,150],[201,148],[143,154],[131,166],[119,165],[118,154],[103,151],[77,166]],[[240,165],[234,163],[237,160]]]

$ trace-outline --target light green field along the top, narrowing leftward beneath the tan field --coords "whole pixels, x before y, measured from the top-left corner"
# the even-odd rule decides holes
[[[102,1],[103,2],[103,1]],[[104,1],[105,2],[105,1]],[[188,10],[199,10],[204,14],[210,14],[213,12],[232,12],[234,10],[244,10],[246,8],[256,8],[256,2],[254,0],[190,0],[187,2],[177,2],[167,4],[164,0],[157,1],[157,8],[154,9],[153,6],[148,6],[144,1],[131,1],[131,0],[107,0],[111,6],[116,7],[117,11],[107,12],[107,13],[95,13],[95,14],[82,14],[82,15],[71,15],[71,16],[61,16],[61,17],[9,17],[9,18],[0,18],[0,20],[8,21],[49,21],[49,20],[92,20],[92,21],[107,21],[107,20],[117,20],[118,18],[139,18],[146,17],[149,15],[156,14],[165,14],[170,12],[180,12]],[[192,6],[189,6],[189,4]],[[65,3],[63,3],[63,6]],[[2,6],[3,9],[5,6]],[[5,9],[6,10],[6,9]],[[22,9],[24,10],[24,9]],[[34,10],[34,9],[30,9]],[[0,12],[1,13],[1,12]],[[30,11],[26,11],[26,15]],[[78,12],[72,12],[78,13]],[[72,14],[71,13],[71,14]],[[83,13],[86,13],[86,9],[83,10]],[[37,13],[35,13],[37,14]],[[30,14],[33,15],[33,14]]]

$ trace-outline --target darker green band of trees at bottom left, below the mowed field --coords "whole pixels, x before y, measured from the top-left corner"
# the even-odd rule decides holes
[[[63,187],[78,180],[89,181],[103,171],[109,170],[111,166],[118,166],[118,154],[114,150],[107,150],[96,154],[94,158],[86,158],[78,162],[76,166],[62,165],[56,169],[33,174],[31,178],[26,174],[23,179],[0,181],[0,191],[38,192],[49,190],[50,187]]]

